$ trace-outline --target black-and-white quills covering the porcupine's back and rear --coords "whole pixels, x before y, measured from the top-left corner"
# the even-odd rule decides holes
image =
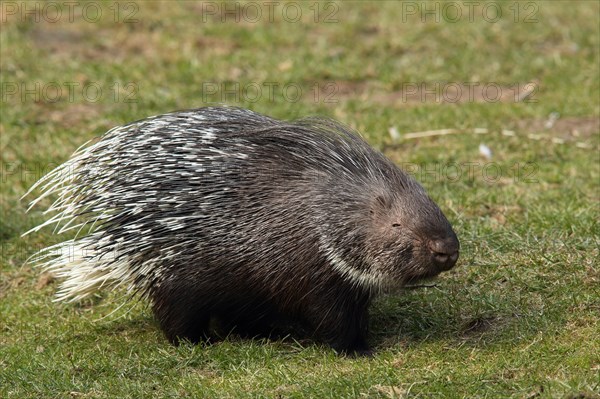
[[[319,180],[326,185],[344,180],[352,193],[340,195],[340,201],[358,200],[357,180],[374,176],[355,173],[379,173],[381,167],[355,167],[357,158],[373,162],[365,146],[333,121],[292,125],[237,108],[191,110],[117,127],[30,189],[43,190],[30,208],[58,196],[47,210],[58,213],[32,231],[55,223],[59,233],[89,229],[36,259],[45,258],[47,269],[65,279],[58,299],[80,300],[113,285],[147,293],[167,271],[194,263],[200,252],[208,256],[207,240],[220,244],[214,256],[234,250],[243,257],[259,248],[257,240],[278,247],[278,239],[305,234],[300,230],[308,226],[296,224],[281,225],[272,236],[271,221],[278,213],[296,212],[298,222],[310,223],[313,194],[304,190]],[[339,164],[347,174],[327,176],[339,173]],[[256,186],[259,182],[268,186]],[[270,222],[261,225],[261,217]]]

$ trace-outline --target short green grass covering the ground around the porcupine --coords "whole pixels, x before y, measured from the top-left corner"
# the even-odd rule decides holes
[[[115,21],[112,2],[92,3],[104,12],[95,23],[69,22],[66,10],[57,22],[36,22],[22,10],[9,15],[9,3],[24,7],[3,2],[0,15],[1,398],[598,397],[599,3],[494,3],[503,9],[496,23],[482,6],[472,22],[463,7],[459,22],[423,23],[395,2],[320,3],[321,19],[334,10],[334,23],[315,23],[313,3],[304,3],[292,23],[282,3],[272,22],[262,7],[259,22],[237,24],[203,20],[194,2],[139,2],[137,23],[123,22],[124,8]],[[532,10],[537,21],[524,22]],[[291,83],[303,96],[202,93],[206,83],[264,82]],[[402,92],[436,82],[496,83],[505,93],[535,82],[537,90],[521,102],[458,103]],[[63,88],[56,102],[52,84]],[[336,102],[323,101],[329,89],[315,100],[315,85],[327,84]],[[82,93],[91,85],[103,90],[97,101]],[[23,265],[59,240],[51,229],[20,237],[44,216],[41,207],[26,214],[19,197],[51,165],[110,127],[204,100],[352,125],[410,168],[452,221],[459,264],[435,287],[374,304],[372,358],[339,357],[310,341],[173,347],[146,304],[119,308],[121,293],[55,303],[57,282]],[[553,112],[560,117],[547,128]],[[458,133],[394,141],[391,127]]]

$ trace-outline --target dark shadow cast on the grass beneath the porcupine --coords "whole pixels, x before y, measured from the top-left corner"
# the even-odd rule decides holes
[[[481,303],[474,303],[476,301],[468,295],[460,296],[456,292],[449,293],[436,288],[406,290],[383,296],[370,308],[368,342],[374,354],[431,341],[455,341],[466,345],[488,346],[505,340],[507,330],[523,327],[515,326],[518,315],[502,310],[513,308],[514,303],[510,298],[506,299],[504,306],[496,304],[499,306],[495,310],[482,306]],[[129,317],[116,316],[113,320],[93,322],[92,325],[93,328],[86,333],[73,332],[73,335],[69,334],[65,339],[93,341],[97,336],[117,340],[151,338],[156,344],[168,344],[158,321],[148,310]],[[299,348],[327,348],[318,338],[311,335],[309,329],[294,322],[277,325],[269,333],[256,336],[240,334],[235,329],[227,331],[218,322],[214,322],[211,324],[209,338],[200,345],[211,348],[223,343],[244,346],[268,344],[294,352]],[[190,345],[187,341],[183,341],[182,344]]]

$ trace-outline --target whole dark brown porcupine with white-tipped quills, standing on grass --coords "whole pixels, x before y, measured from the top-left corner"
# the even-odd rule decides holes
[[[125,286],[174,343],[205,339],[211,320],[250,336],[291,320],[337,350],[367,351],[374,295],[458,258],[425,190],[328,119],[230,107],[150,117],[29,192],[39,186],[30,208],[55,194],[57,213],[30,232],[78,231],[35,258],[65,279],[58,299]]]

